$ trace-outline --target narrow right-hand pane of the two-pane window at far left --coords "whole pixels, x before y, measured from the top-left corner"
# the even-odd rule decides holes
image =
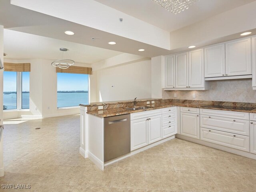
[[[29,109],[29,72],[22,72],[21,108]]]

